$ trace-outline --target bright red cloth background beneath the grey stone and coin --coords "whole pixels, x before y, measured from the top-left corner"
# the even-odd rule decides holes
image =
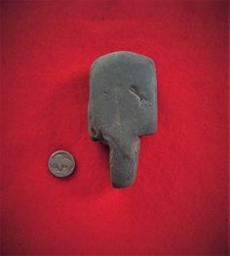
[[[1,1],[2,253],[227,253],[227,1]],[[111,188],[87,130],[89,69],[157,66],[159,125],[137,180]],[[47,169],[73,153],[67,180]]]

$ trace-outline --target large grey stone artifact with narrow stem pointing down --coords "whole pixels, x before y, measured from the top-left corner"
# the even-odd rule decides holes
[[[134,183],[140,140],[157,127],[157,82],[154,62],[132,52],[98,58],[91,67],[89,133],[109,146],[112,185]]]

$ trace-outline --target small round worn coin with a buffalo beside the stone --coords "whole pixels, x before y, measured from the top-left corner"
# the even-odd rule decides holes
[[[56,177],[68,177],[75,168],[75,160],[71,153],[65,150],[58,150],[50,156],[48,167]]]

